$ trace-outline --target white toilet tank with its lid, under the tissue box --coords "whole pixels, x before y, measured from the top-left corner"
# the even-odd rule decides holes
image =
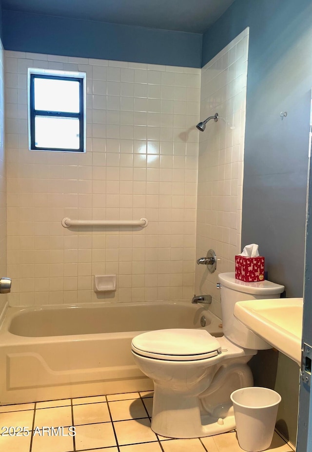
[[[237,301],[280,298],[285,287],[266,280],[239,281],[235,279],[234,272],[220,273],[219,282],[224,336],[243,348],[254,350],[272,348],[234,317],[234,306]]]

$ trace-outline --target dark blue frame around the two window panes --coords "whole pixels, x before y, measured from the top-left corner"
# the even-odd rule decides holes
[[[35,109],[35,79],[47,78],[53,80],[72,80],[79,83],[79,113],[70,112],[52,112],[48,110]],[[83,96],[83,82],[82,77],[67,77],[61,75],[45,75],[45,74],[30,74],[30,145],[32,151],[69,151],[69,152],[84,152],[84,96]],[[68,117],[79,119],[79,149],[70,148],[42,148],[36,146],[35,140],[35,118],[36,116],[48,117]]]

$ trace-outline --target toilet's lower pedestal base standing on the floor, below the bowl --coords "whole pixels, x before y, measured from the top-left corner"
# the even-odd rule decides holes
[[[236,427],[230,394],[248,384],[253,385],[252,373],[242,362],[221,366],[213,383],[204,392],[198,391],[200,395],[195,387],[186,392],[178,386],[155,382],[151,429],[168,438],[200,438],[230,432]]]

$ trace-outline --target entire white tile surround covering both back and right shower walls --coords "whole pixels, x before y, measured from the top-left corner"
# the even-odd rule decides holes
[[[195,282],[220,316],[217,273],[240,251],[248,38],[202,70],[5,52],[11,305],[190,300]],[[86,72],[86,153],[28,150],[28,67]],[[64,217],[149,224],[64,228]],[[210,248],[213,275],[195,265]],[[93,291],[104,274],[116,292]]]

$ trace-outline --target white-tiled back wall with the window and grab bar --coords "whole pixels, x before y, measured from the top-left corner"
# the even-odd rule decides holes
[[[200,70],[5,52],[11,305],[190,300]],[[87,74],[87,152],[28,150],[27,68]],[[146,228],[64,228],[139,219]],[[93,276],[116,274],[97,295]]]

